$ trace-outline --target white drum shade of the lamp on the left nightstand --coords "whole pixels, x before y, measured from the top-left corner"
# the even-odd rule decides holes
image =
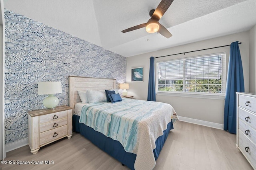
[[[62,93],[61,82],[38,82],[38,95]]]

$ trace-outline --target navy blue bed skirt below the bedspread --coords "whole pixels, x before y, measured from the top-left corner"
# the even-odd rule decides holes
[[[119,141],[115,141],[110,137],[106,137],[102,133],[95,131],[93,128],[86,126],[84,123],[79,123],[80,116],[73,115],[73,131],[80,133],[89,139],[98,148],[104,150],[110,156],[116,158],[119,162],[134,170],[134,162],[136,154],[126,152]],[[164,135],[156,140],[156,149],[153,150],[155,159],[158,158],[164,142],[166,141],[170,129],[173,129],[172,121],[168,123]]]

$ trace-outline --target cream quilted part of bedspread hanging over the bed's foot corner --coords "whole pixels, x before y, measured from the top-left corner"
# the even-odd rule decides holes
[[[171,113],[171,117],[168,113]],[[172,106],[164,105],[161,109],[154,111],[152,117],[140,122],[135,170],[152,170],[154,168],[156,160],[152,150],[156,148],[156,139],[164,134],[163,131],[167,129],[167,124],[173,117],[175,121],[178,119]]]

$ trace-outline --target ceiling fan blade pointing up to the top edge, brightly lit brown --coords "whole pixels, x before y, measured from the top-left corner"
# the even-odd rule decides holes
[[[155,12],[153,13],[151,19],[160,20],[160,18],[162,18],[162,16],[168,10],[172,2],[173,0],[162,0],[158,7],[156,8]]]

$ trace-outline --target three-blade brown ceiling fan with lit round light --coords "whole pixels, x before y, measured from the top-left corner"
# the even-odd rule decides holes
[[[134,27],[130,27],[128,29],[124,29],[122,33],[146,27],[146,31],[148,33],[158,32],[166,38],[172,37],[172,34],[162,24],[158,22],[164,15],[164,13],[168,10],[172,2],[173,0],[162,0],[156,10],[150,10],[149,16],[151,18],[148,20],[148,22],[136,25]]]

